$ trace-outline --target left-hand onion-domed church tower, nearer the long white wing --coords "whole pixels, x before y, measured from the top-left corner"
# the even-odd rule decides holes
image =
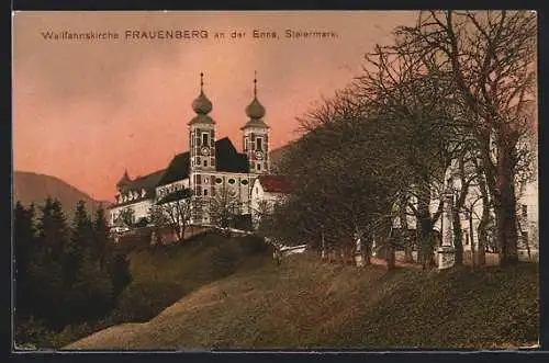
[[[189,122],[189,159],[191,173],[215,171],[215,121],[208,114],[212,102],[204,94],[204,73],[200,73],[200,94],[192,102],[197,113]]]

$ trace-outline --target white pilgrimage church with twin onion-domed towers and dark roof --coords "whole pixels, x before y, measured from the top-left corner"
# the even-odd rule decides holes
[[[121,225],[121,213],[133,209],[134,223],[149,222],[155,204],[181,200],[202,202],[194,207],[190,224],[209,225],[209,200],[226,193],[236,201],[237,215],[251,215],[251,188],[261,174],[269,174],[269,126],[265,123],[265,107],[254,98],[245,109],[247,121],[240,127],[242,149],[227,138],[216,138],[216,121],[210,116],[212,102],[204,93],[203,73],[200,73],[200,94],[192,102],[195,115],[188,123],[188,150],[176,155],[169,165],[145,177],[131,179],[127,171],[116,184],[117,194],[110,208],[112,227]]]

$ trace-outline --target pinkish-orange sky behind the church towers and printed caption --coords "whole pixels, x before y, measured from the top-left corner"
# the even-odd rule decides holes
[[[200,72],[217,138],[240,148],[253,99],[267,109],[271,149],[298,137],[295,117],[360,75],[365,53],[391,42],[417,12],[16,12],[13,16],[14,170],[58,177],[112,201],[132,178],[188,149]],[[206,30],[206,39],[132,39],[126,31]],[[251,37],[274,31],[278,39]],[[335,38],[289,39],[285,30]],[[232,31],[245,32],[234,39]],[[45,39],[43,33],[111,32],[117,39]],[[224,39],[215,39],[224,32]]]

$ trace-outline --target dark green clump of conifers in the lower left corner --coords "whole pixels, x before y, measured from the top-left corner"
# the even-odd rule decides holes
[[[61,204],[48,198],[40,217],[21,203],[13,217],[18,343],[52,344],[53,334],[96,322],[116,306],[131,275],[102,208],[92,219],[79,202],[69,226]]]

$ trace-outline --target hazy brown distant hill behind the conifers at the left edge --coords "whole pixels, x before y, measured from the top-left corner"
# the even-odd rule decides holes
[[[86,202],[88,213],[94,213],[101,203],[104,207],[109,205],[109,202],[96,201],[59,178],[29,171],[13,172],[13,204],[20,201],[24,205],[34,203],[41,206],[48,196],[59,200],[69,218],[72,218],[76,203],[80,200]]]

